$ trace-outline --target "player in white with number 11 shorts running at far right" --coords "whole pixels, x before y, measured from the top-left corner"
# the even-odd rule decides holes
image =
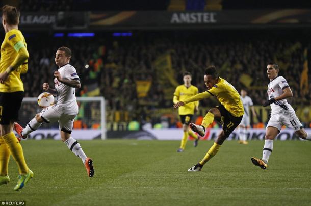
[[[298,137],[311,141],[311,133],[306,133],[296,116],[292,106],[288,104],[286,98],[292,97],[292,90],[283,76],[278,76],[279,67],[275,63],[269,63],[267,74],[270,79],[268,85],[268,100],[263,105],[271,106],[271,117],[267,124],[265,145],[262,159],[251,158],[254,165],[267,168],[268,160],[273,149],[273,140],[280,132],[282,125],[292,128]]]

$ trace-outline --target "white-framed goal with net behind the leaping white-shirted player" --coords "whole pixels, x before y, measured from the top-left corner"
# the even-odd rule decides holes
[[[23,98],[18,123],[25,127],[28,122],[42,111],[36,97]],[[105,99],[103,97],[76,97],[79,114],[73,124],[71,136],[74,139],[106,139]],[[45,123],[33,131],[28,139],[61,139],[58,122]]]

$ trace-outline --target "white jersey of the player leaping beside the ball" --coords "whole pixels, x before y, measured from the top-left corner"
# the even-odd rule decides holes
[[[58,71],[61,73],[61,78],[79,80],[75,68],[70,64],[61,66]],[[58,96],[57,106],[62,108],[62,113],[64,114],[76,115],[78,113],[78,105],[75,98],[75,88],[59,82],[56,78],[54,79],[54,83]]]

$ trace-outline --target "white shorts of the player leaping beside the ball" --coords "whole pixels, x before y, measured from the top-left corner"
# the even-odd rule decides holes
[[[44,108],[40,112],[40,117],[46,123],[53,123],[58,121],[60,130],[70,134],[76,115],[64,114],[62,112],[62,108],[59,108],[57,105],[52,105]]]

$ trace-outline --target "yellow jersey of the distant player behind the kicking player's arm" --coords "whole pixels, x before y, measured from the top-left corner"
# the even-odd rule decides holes
[[[178,101],[184,101],[185,99],[196,95],[198,91],[199,91],[198,88],[193,85],[191,85],[188,88],[185,85],[179,85],[175,89],[173,102],[174,104],[176,104]],[[194,114],[194,108],[196,106],[199,106],[199,101],[191,102],[183,107],[179,107],[178,114],[179,115]]]

